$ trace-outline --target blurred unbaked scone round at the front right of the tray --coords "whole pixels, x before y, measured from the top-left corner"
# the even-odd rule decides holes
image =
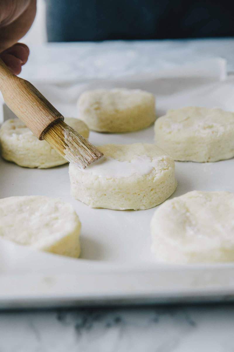
[[[234,194],[192,191],[163,203],[151,221],[159,262],[234,261]]]

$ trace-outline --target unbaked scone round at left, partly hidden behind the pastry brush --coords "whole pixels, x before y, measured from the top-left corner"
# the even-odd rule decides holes
[[[88,138],[89,129],[83,121],[65,118],[65,122]],[[27,168],[46,169],[67,163],[45,140],[38,140],[19,119],[7,120],[2,124],[0,144],[4,159]]]

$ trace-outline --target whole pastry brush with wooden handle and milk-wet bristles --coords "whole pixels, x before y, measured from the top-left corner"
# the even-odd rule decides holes
[[[13,113],[38,139],[45,139],[69,163],[85,169],[103,156],[63,121],[58,110],[30,82],[13,75],[1,59],[0,90]]]

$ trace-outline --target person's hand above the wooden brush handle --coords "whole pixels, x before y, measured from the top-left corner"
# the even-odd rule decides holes
[[[27,62],[27,45],[17,43],[31,27],[36,0],[0,0],[0,58],[18,75]]]

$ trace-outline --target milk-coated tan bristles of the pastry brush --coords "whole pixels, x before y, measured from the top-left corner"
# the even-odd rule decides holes
[[[49,127],[43,137],[69,163],[82,169],[103,156],[102,152],[62,120]]]

